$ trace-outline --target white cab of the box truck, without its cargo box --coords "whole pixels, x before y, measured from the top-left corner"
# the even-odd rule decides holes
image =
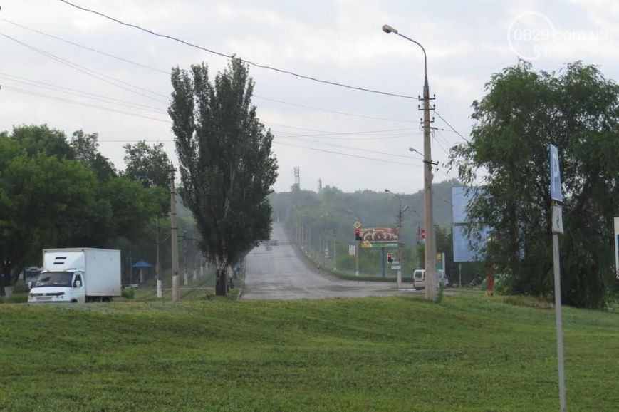
[[[28,302],[86,302],[83,272],[41,272],[31,286]]]

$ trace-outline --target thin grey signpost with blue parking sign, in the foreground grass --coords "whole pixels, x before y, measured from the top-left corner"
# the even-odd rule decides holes
[[[563,201],[561,193],[561,172],[559,169],[558,150],[550,145],[550,197],[552,205],[552,252],[554,266],[554,300],[556,313],[556,334],[557,334],[557,363],[559,378],[559,401],[561,412],[567,411],[566,406],[566,379],[563,370],[563,321],[561,316],[561,266],[559,261],[559,234],[563,234],[563,216],[561,206],[556,202]]]

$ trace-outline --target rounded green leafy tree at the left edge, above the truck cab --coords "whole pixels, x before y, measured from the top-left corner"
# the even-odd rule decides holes
[[[87,220],[95,199],[93,172],[46,153],[28,155],[0,136],[0,271],[11,286],[43,247],[57,247]]]

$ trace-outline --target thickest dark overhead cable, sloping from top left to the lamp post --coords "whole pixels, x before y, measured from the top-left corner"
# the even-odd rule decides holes
[[[109,19],[111,21],[115,21],[116,23],[122,24],[123,26],[128,26],[128,27],[132,27],[134,29],[145,31],[146,33],[152,34],[153,36],[162,37],[162,38],[168,38],[168,39],[170,39],[172,41],[177,41],[178,43],[182,43],[182,44],[184,44],[186,46],[189,46],[189,47],[198,48],[199,50],[206,51],[207,53],[212,53],[212,54],[215,54],[217,56],[222,56],[222,57],[225,57],[225,58],[232,58],[233,57],[232,55],[228,55],[226,53],[221,53],[219,51],[210,50],[210,49],[202,47],[202,46],[197,46],[197,44],[189,43],[188,41],[181,40],[180,38],[177,38],[177,37],[174,37],[174,36],[168,36],[166,34],[160,34],[160,33],[157,33],[155,31],[152,31],[152,30],[149,30],[149,29],[145,29],[142,26],[137,26],[136,24],[126,23],[125,21],[121,21],[121,20],[115,19],[113,17],[110,17],[107,14],[103,14],[100,11],[95,11],[95,10],[92,10],[92,9],[86,9],[85,7],[78,6],[78,5],[73,4],[73,3],[69,2],[69,1],[66,1],[66,0],[60,0],[60,1],[62,1],[65,4],[68,4],[69,6],[73,6],[76,9],[80,9],[80,10],[83,10],[83,11],[88,11],[89,13],[93,13],[93,14],[97,14],[98,16],[102,16],[105,19]],[[415,99],[415,100],[417,100],[417,97],[415,97],[415,96],[407,96],[407,95],[396,94],[396,93],[387,93],[387,92],[377,91],[377,90],[373,90],[373,89],[369,89],[369,88],[350,86],[350,85],[347,85],[347,84],[344,84],[344,83],[337,83],[335,81],[327,81],[327,80],[322,80],[322,79],[311,77],[311,76],[304,76],[302,74],[295,73],[293,71],[288,71],[288,70],[284,70],[284,69],[281,69],[281,68],[276,68],[276,67],[273,67],[273,66],[267,66],[267,65],[264,65],[264,64],[254,63],[253,61],[244,60],[242,58],[239,58],[239,60],[244,62],[244,63],[247,63],[247,64],[249,64],[251,66],[255,66],[255,67],[259,67],[259,68],[264,68],[264,69],[271,70],[271,71],[276,71],[276,72],[279,72],[279,73],[289,74],[291,76],[295,76],[295,77],[298,77],[298,78],[303,78],[303,79],[310,80],[310,81],[316,81],[318,83],[330,84],[331,86],[339,86],[339,87],[349,88],[349,89],[358,90],[358,91],[365,91],[365,92],[368,92],[368,93],[376,93],[376,94],[380,94],[380,95],[384,95],[384,96],[392,96],[392,97],[408,98],[408,99]]]

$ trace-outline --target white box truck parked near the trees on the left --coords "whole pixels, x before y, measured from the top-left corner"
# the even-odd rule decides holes
[[[120,296],[120,250],[43,249],[28,302],[110,302]]]

